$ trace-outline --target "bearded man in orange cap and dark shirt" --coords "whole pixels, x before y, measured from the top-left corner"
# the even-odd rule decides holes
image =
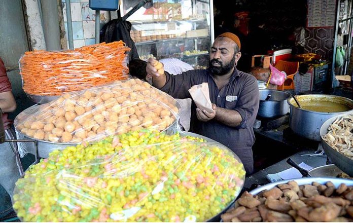
[[[174,98],[191,98],[189,89],[208,83],[213,112],[192,104],[190,131],[214,139],[240,158],[247,174],[253,172],[253,124],[259,108],[259,88],[252,75],[236,69],[241,57],[239,38],[230,32],[219,35],[209,54],[209,68],[189,70],[181,75],[159,75],[150,59],[146,71],[153,85]]]

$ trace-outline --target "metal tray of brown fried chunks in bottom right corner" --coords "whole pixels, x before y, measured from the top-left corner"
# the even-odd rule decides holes
[[[353,221],[353,180],[308,177],[244,192],[222,221]]]

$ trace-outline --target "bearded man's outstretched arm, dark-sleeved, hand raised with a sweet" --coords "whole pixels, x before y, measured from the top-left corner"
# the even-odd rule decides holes
[[[174,98],[190,98],[188,90],[195,84],[194,78],[197,76],[195,70],[173,76],[165,72],[164,67],[157,70],[154,66],[157,62],[157,60],[150,58],[146,66],[147,73],[152,77],[153,86]]]

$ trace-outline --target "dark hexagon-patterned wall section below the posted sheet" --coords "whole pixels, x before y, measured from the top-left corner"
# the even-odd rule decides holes
[[[332,61],[334,28],[306,28],[305,53],[320,54],[326,60]]]

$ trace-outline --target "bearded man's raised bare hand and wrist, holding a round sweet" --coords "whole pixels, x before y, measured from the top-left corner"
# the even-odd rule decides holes
[[[152,77],[153,86],[162,88],[166,82],[163,63],[153,58],[148,59],[146,72]]]

